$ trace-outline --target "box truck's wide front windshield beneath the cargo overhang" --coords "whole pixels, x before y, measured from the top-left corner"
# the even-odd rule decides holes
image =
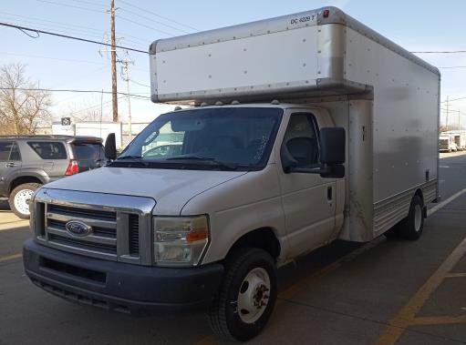
[[[131,167],[260,169],[269,157],[282,114],[280,108],[267,107],[199,108],[163,114],[112,166],[127,162]]]

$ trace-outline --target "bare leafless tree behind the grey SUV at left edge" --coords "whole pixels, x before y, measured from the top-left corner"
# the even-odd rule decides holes
[[[0,66],[0,134],[34,134],[50,122],[51,96],[26,77],[26,66]]]

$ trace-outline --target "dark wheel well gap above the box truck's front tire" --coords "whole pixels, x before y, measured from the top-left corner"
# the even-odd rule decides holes
[[[272,258],[277,258],[280,255],[280,242],[274,234],[272,228],[257,228],[247,234],[244,234],[241,238],[238,238],[230,249],[229,253],[233,249],[238,248],[260,248],[267,251]]]

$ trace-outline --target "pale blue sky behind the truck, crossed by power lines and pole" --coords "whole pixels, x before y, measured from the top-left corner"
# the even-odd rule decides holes
[[[35,27],[99,42],[109,39],[109,0],[3,1],[0,22]],[[115,0],[119,44],[147,50],[159,38],[179,36],[226,25],[288,15],[325,5],[336,5],[383,36],[409,51],[466,50],[466,1],[374,0],[234,0],[154,1]],[[40,35],[31,38],[17,29],[0,26],[0,64],[27,65],[27,75],[41,87],[111,90],[109,54],[105,46]],[[34,36],[34,34],[30,34]],[[99,52],[100,50],[100,52]],[[466,97],[466,54],[418,54],[442,74],[441,100]],[[134,61],[129,67],[130,91],[150,96],[148,56],[119,52]],[[126,85],[119,77],[119,91]],[[101,96],[54,93],[54,115],[70,110],[100,109]],[[103,98],[104,115],[110,116],[110,96]],[[444,104],[443,104],[444,105]],[[131,99],[134,122],[147,122],[161,112],[150,100]],[[442,106],[443,107],[443,106]],[[127,118],[126,98],[119,100],[119,114]],[[171,107],[168,107],[171,109]],[[450,103],[461,109],[466,125],[466,99]],[[163,110],[162,110],[163,111]],[[456,118],[456,119],[454,119]],[[451,113],[451,124],[458,114]]]

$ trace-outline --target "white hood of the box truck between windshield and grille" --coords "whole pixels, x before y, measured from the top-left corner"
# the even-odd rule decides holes
[[[153,198],[158,215],[179,215],[191,198],[246,171],[100,167],[47,184],[47,188]]]

